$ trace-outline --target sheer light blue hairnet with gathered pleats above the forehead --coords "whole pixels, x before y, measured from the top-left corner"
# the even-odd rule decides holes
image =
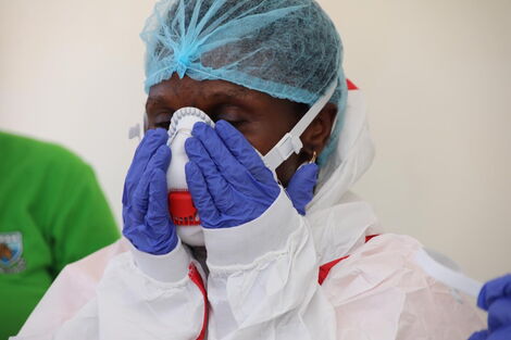
[[[140,36],[146,92],[177,73],[312,105],[338,81],[338,118],[320,162],[335,149],[347,97],[342,43],[313,0],[162,0]]]

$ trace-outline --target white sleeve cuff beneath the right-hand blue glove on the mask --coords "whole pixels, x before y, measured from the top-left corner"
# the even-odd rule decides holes
[[[258,218],[237,227],[203,229],[208,264],[247,265],[267,252],[284,250],[301,218],[281,188],[277,199]]]

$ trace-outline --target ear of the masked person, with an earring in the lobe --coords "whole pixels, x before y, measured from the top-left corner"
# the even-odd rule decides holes
[[[314,152],[320,154],[325,148],[331,137],[336,115],[337,105],[327,103],[301,135],[302,151],[310,158],[312,158]]]

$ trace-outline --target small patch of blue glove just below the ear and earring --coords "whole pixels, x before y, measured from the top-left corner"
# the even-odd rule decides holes
[[[287,185],[286,192],[289,199],[291,199],[292,206],[295,206],[300,215],[306,214],[306,205],[314,196],[317,171],[317,164],[315,163],[301,165]]]

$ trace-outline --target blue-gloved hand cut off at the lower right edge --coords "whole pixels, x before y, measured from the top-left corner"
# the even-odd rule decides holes
[[[486,282],[477,306],[488,312],[488,329],[473,333],[469,340],[511,339],[511,274]]]

